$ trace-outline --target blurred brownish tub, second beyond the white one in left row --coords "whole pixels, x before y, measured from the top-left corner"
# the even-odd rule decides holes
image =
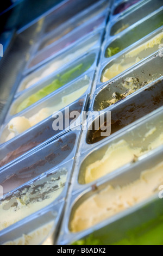
[[[37,50],[42,50],[43,48],[53,44],[60,38],[63,38],[71,31],[77,31],[77,28],[79,28],[83,24],[89,23],[94,17],[106,13],[109,10],[108,5],[108,1],[99,1],[95,5],[92,5],[91,8],[83,11],[80,14],[77,14],[72,19],[68,20],[64,25],[61,25],[58,28],[55,28],[54,31],[52,31],[51,33],[48,33],[47,36],[43,36],[42,39],[40,39],[40,44],[37,47]]]

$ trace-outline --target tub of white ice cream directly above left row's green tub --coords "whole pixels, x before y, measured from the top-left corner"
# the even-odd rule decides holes
[[[24,77],[18,86],[15,97],[23,93],[23,90],[32,88],[36,83],[46,79],[49,75],[52,75],[53,72],[65,67],[69,62],[72,62],[73,59],[75,60],[82,56],[82,54],[84,55],[91,50],[99,48],[102,39],[103,31],[98,32],[95,35],[90,34],[87,39],[84,42],[81,42],[78,46],[71,48],[69,51],[66,51],[63,54],[60,54],[59,57],[54,58],[49,63]]]

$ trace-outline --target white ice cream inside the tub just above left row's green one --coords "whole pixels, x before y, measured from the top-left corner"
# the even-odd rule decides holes
[[[61,66],[65,65],[67,62],[70,62],[74,58],[76,58],[76,57],[82,55],[83,53],[87,52],[96,43],[97,43],[97,40],[92,42],[91,44],[88,44],[88,45],[84,46],[83,48],[80,48],[76,52],[68,54],[67,56],[65,56],[61,60],[57,60],[56,62],[53,62],[46,70],[44,70],[42,72],[42,74],[40,76],[36,76],[35,78],[30,79],[30,77],[32,77],[30,75],[29,77],[27,77],[27,81],[29,81],[29,80],[30,81],[25,83],[25,87],[23,89],[27,89],[30,86],[33,86],[33,84],[41,81],[46,76],[51,75],[55,70],[59,69]]]

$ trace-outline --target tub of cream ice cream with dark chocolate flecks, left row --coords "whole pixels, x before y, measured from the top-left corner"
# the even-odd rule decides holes
[[[0,237],[3,232],[14,228],[13,224],[29,221],[32,216],[39,216],[46,208],[52,208],[52,206],[64,202],[70,186],[72,166],[73,161],[66,162],[58,169],[43,173],[35,180],[27,182],[3,196],[1,199]],[[12,184],[10,185],[12,186]],[[4,189],[7,189],[7,186]],[[8,187],[8,189],[10,188]],[[6,216],[8,216],[8,220]]]

